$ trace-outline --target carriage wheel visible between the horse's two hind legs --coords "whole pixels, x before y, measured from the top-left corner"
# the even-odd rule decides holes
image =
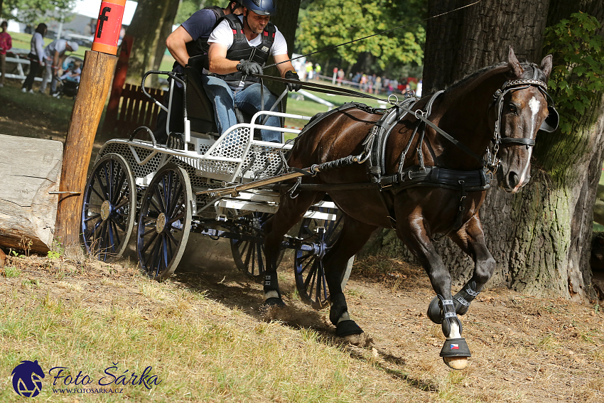
[[[298,237],[308,241],[322,243],[325,245],[323,254],[296,249],[293,258],[294,276],[296,277],[296,288],[300,294],[300,299],[311,305],[315,309],[323,309],[329,303],[329,291],[327,280],[325,279],[325,270],[323,269],[323,256],[330,247],[335,244],[342,230],[342,215],[338,215],[336,220],[318,220],[316,218],[304,218],[300,227]],[[323,227],[324,232],[317,232],[317,229]],[[355,257],[348,260],[346,269],[342,274],[342,289],[348,282],[348,277],[352,271],[352,263]]]

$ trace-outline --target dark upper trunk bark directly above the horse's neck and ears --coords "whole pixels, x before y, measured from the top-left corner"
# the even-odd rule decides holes
[[[473,2],[429,0],[428,14],[436,16]],[[424,88],[441,90],[470,72],[507,60],[509,45],[519,60],[539,59],[548,3],[482,0],[475,6],[428,20]]]

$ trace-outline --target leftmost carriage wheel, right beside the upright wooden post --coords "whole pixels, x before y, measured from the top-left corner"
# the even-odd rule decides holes
[[[103,261],[126,250],[136,215],[136,186],[129,164],[106,154],[92,168],[82,203],[82,237],[89,254]]]

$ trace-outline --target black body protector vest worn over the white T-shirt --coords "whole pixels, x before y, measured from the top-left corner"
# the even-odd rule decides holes
[[[237,61],[252,60],[264,67],[266,60],[269,59],[269,53],[275,41],[276,28],[274,23],[269,22],[266,24],[264,32],[260,34],[262,36],[262,41],[259,45],[250,46],[243,33],[243,24],[237,16],[229,14],[222,17],[222,19],[227,20],[233,31],[233,44],[229,50],[227,50],[227,59]],[[220,23],[220,21],[218,21],[218,23]],[[254,82],[260,82],[259,78],[243,75],[242,72],[239,71],[227,75],[215,74],[215,76],[222,78],[222,80],[225,80],[230,87],[234,88],[239,87],[239,83],[242,81],[244,82],[244,88],[254,84]]]

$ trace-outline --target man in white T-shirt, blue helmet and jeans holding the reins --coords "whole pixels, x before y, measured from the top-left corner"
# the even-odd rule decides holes
[[[281,77],[298,80],[287,55],[287,43],[281,32],[269,20],[276,14],[276,0],[243,0],[242,16],[227,15],[210,34],[207,43],[209,72],[202,76],[205,91],[214,105],[216,126],[220,133],[237,124],[234,107],[247,114],[272,105],[274,95],[263,87],[255,74],[272,55]],[[288,83],[289,90],[299,85]],[[264,101],[262,96],[264,95]],[[266,108],[268,109],[268,108]],[[271,116],[266,126],[281,127],[279,117]],[[281,141],[279,131],[261,130],[263,141]]]

